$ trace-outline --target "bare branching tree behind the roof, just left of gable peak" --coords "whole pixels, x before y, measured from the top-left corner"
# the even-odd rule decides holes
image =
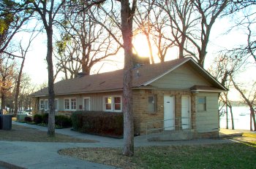
[[[192,55],[197,58],[188,46],[187,36],[192,36],[194,27],[197,25],[198,17],[195,17],[195,7],[192,1],[159,1],[157,6],[161,8],[168,17],[167,28],[170,34],[171,42],[178,47],[178,58],[184,58],[187,55]],[[160,38],[160,37],[159,37]]]

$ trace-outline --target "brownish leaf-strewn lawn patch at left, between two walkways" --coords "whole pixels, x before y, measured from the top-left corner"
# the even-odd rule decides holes
[[[69,135],[56,133],[55,137],[48,137],[47,132],[31,127],[12,125],[12,130],[0,130],[1,141],[31,141],[31,142],[75,142],[95,143],[96,141],[72,138]]]

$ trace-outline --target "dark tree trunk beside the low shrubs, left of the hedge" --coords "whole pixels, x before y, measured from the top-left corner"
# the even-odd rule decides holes
[[[50,23],[49,23],[50,25]],[[46,29],[46,27],[45,27]],[[48,26],[47,32],[47,56],[46,60],[48,63],[48,106],[49,106],[49,117],[48,117],[48,135],[55,135],[55,108],[54,108],[54,84],[53,84],[53,28]]]

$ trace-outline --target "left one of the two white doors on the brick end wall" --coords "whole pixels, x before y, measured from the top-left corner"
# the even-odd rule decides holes
[[[175,130],[174,117],[174,97],[170,95],[164,96],[164,127],[165,130]]]

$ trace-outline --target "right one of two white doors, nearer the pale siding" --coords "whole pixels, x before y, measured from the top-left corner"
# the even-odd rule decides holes
[[[189,95],[181,96],[181,123],[182,129],[190,127],[190,97]]]

